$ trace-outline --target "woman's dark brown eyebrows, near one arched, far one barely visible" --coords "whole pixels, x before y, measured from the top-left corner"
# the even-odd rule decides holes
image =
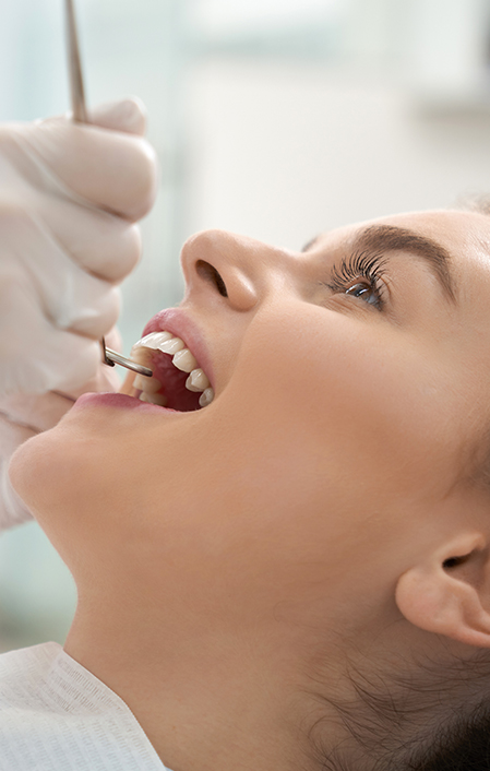
[[[321,238],[318,236],[302,249],[309,251]],[[443,293],[456,301],[455,282],[451,272],[451,254],[438,241],[420,236],[415,230],[393,225],[370,225],[357,234],[352,249],[361,252],[383,253],[387,251],[409,251],[425,260],[439,281]]]

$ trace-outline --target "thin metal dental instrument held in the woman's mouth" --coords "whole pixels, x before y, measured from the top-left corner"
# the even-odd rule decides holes
[[[73,120],[77,123],[88,123],[87,110],[85,107],[85,91],[83,87],[82,78],[82,64],[80,61],[80,46],[79,46],[79,35],[76,32],[76,20],[73,0],[65,0],[65,15],[67,15],[67,39],[68,39],[68,62],[70,71],[70,94],[71,104],[73,111]],[[111,348],[106,348],[106,341],[104,337],[100,340],[100,346],[103,349],[103,361],[109,367],[113,367],[119,364],[121,367],[127,369],[132,369],[139,375],[144,375],[147,378],[153,376],[153,372],[147,367],[132,361],[131,359],[118,354]]]

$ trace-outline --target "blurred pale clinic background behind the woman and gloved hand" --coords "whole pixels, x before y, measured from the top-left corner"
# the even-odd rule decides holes
[[[89,104],[135,94],[162,166],[124,283],[126,353],[220,227],[321,230],[490,192],[488,0],[77,0]],[[0,0],[0,120],[69,107],[62,0]],[[63,642],[68,570],[35,523],[0,537],[0,650]]]

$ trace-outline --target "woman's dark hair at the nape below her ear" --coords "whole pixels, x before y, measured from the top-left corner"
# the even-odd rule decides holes
[[[490,770],[489,651],[405,673],[350,668],[349,683],[348,702],[316,695],[345,736],[332,746],[325,721],[315,722],[309,740],[319,771]]]

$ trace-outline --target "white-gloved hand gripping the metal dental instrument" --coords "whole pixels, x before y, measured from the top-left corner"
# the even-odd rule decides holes
[[[156,191],[135,99],[0,126],[0,395],[76,392],[134,268]]]

